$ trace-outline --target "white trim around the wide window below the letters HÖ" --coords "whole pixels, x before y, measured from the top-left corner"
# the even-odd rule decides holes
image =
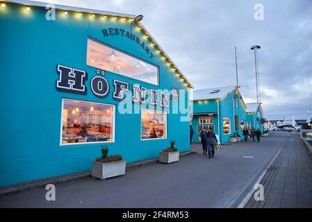
[[[112,140],[111,141],[101,141],[101,142],[83,142],[83,143],[70,143],[70,144],[63,144],[62,143],[62,137],[63,137],[63,108],[64,108],[64,101],[79,101],[79,102],[85,102],[85,103],[95,103],[99,105],[110,105],[113,107],[113,121],[112,121]],[[62,98],[62,105],[61,105],[61,112],[60,112],[60,146],[79,146],[79,145],[88,145],[88,144],[112,144],[115,143],[115,118],[116,118],[116,113],[115,113],[115,105],[114,104],[108,104],[108,103],[97,103],[97,102],[92,102],[92,101],[84,101],[84,100],[79,100],[79,99],[67,99],[67,98]]]

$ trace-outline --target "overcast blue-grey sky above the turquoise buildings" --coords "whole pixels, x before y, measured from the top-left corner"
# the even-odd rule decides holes
[[[236,84],[256,101],[254,54],[258,50],[261,100],[268,119],[311,118],[312,1],[250,0],[43,0],[83,8],[144,15],[142,24],[195,89]],[[264,7],[256,21],[254,6]]]

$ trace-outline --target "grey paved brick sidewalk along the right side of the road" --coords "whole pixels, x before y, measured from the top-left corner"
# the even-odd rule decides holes
[[[245,207],[312,207],[312,161],[299,136],[288,137],[261,184],[264,200],[251,198]]]

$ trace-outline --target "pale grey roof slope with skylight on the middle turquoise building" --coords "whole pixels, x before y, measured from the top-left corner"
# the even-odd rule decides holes
[[[231,93],[236,86],[216,87],[209,89],[196,89],[193,91],[192,101],[209,100],[209,99],[222,99],[227,94]]]

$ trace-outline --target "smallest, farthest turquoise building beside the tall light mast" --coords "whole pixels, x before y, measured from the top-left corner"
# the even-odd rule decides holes
[[[246,127],[250,131],[252,128],[260,129],[264,133],[264,113],[261,103],[246,103]]]

